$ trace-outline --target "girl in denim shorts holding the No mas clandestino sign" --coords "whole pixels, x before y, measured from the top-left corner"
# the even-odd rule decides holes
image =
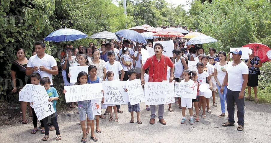
[[[85,71],[79,72],[77,76],[76,85],[87,84],[88,75]],[[67,91],[64,89],[63,94]],[[91,105],[91,100],[79,101],[78,103],[78,114],[81,121],[81,129],[83,131],[83,137],[81,142],[87,142],[87,135],[89,130],[91,131],[90,138],[93,141],[98,141],[98,139],[94,136],[94,115]],[[87,114],[87,118],[86,118]],[[87,128],[86,128],[86,120],[87,120]]]

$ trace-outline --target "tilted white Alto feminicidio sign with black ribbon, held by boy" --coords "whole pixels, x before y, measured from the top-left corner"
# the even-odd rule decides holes
[[[34,104],[32,105],[32,108],[34,108],[35,113],[37,115],[37,118],[42,120],[45,117],[48,117],[52,114],[54,114],[54,107],[53,102],[49,102],[49,96],[44,88],[44,86],[37,88],[35,91],[33,91],[32,94],[32,101]]]

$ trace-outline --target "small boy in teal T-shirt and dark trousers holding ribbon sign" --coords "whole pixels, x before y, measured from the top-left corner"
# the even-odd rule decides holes
[[[59,141],[61,140],[61,136],[60,136],[60,131],[59,131],[59,127],[58,127],[58,123],[57,123],[57,110],[56,110],[56,104],[57,104],[57,100],[59,99],[58,94],[57,94],[57,90],[54,87],[50,87],[50,78],[49,77],[43,77],[42,79],[40,79],[40,85],[44,86],[44,88],[47,91],[48,96],[50,97],[48,99],[49,102],[53,102],[52,105],[54,107],[54,111],[55,113],[44,118],[43,119],[43,124],[44,124],[44,129],[45,129],[45,136],[43,137],[43,141],[47,141],[49,138],[49,123],[52,123],[54,125],[55,128],[55,132],[57,134],[57,137],[55,138],[55,140]]]

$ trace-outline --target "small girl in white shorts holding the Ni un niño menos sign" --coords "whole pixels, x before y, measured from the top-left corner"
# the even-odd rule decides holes
[[[181,80],[180,83],[189,83],[190,85],[194,84],[194,81],[191,80],[190,77],[191,76],[191,72],[187,69],[183,72],[183,80]],[[189,110],[189,115],[190,115],[190,125],[194,124],[194,120],[193,120],[193,107],[192,107],[192,98],[182,98],[181,97],[181,107],[182,107],[182,115],[183,118],[181,120],[181,124],[185,123],[185,109],[186,107]]]

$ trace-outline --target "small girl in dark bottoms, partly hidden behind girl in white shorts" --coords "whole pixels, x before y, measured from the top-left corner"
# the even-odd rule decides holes
[[[196,122],[199,122],[199,82],[198,82],[198,73],[196,71],[191,71],[191,80],[197,85],[197,98],[192,99],[192,103],[195,106],[196,111]],[[194,115],[195,116],[195,115]]]

